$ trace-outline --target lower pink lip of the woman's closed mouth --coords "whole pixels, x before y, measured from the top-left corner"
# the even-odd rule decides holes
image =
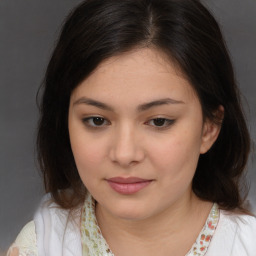
[[[146,186],[148,186],[152,181],[142,181],[136,183],[117,183],[113,181],[108,181],[110,187],[115,190],[116,192],[123,194],[123,195],[131,195],[136,192],[139,192]]]

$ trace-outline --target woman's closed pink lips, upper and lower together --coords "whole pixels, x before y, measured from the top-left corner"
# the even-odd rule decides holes
[[[114,177],[107,179],[107,182],[110,187],[116,192],[124,195],[130,195],[140,191],[141,189],[149,185],[152,180],[145,180],[137,177]]]

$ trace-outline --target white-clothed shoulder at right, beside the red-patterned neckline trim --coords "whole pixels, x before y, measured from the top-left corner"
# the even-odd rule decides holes
[[[220,210],[220,219],[209,247],[209,256],[254,255],[256,251],[255,237],[255,217]]]

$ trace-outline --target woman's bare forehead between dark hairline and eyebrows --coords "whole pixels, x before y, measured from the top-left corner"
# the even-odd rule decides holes
[[[177,100],[196,97],[180,69],[162,52],[145,48],[103,61],[74,90],[72,98],[83,96],[147,101],[170,96]],[[180,99],[179,99],[180,98]],[[182,98],[182,99],[181,99]]]

